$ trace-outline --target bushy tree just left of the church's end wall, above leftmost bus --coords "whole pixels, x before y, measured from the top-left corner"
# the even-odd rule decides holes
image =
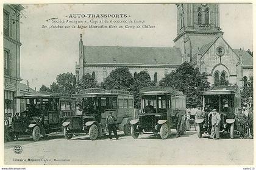
[[[72,73],[59,74],[56,80],[60,87],[60,92],[69,94],[76,93],[76,76]]]

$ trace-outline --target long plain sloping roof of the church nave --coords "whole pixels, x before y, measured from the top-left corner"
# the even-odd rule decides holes
[[[181,65],[179,48],[84,46],[86,63]]]

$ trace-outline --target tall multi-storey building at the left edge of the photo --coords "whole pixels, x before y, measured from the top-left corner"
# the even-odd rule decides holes
[[[20,12],[22,5],[4,5],[4,113],[20,112]]]

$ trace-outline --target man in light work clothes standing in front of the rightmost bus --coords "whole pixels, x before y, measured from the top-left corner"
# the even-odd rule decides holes
[[[208,117],[212,115],[212,129],[211,129],[211,136],[209,139],[213,139],[216,136],[216,140],[219,140],[219,126],[221,122],[221,115],[216,112],[216,109],[213,109],[213,112],[208,114]]]

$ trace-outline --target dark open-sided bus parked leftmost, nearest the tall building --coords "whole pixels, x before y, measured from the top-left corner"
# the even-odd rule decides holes
[[[8,125],[5,135],[9,141],[18,136],[32,136],[38,141],[40,135],[63,132],[62,123],[76,113],[75,100],[70,94],[41,92],[16,96],[15,99],[25,99],[26,110]],[[40,122],[41,114],[43,122]]]

